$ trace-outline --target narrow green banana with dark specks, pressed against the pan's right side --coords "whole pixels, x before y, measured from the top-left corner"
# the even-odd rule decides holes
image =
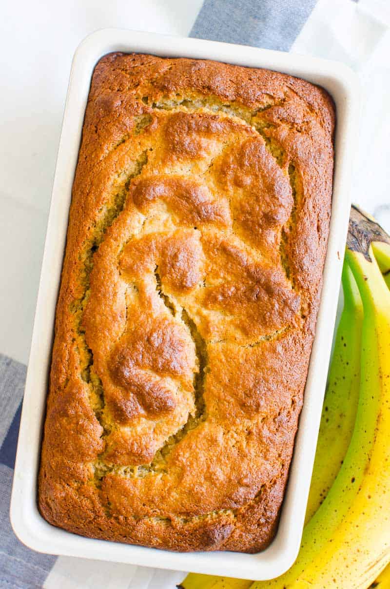
[[[330,363],[305,522],[315,514],[341,468],[358,408],[363,306],[346,263],[342,287],[344,306]]]

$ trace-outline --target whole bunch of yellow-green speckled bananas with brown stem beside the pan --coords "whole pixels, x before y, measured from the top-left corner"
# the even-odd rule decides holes
[[[390,237],[357,207],[342,286],[295,564],[281,577],[252,584],[189,574],[183,589],[390,589]]]

